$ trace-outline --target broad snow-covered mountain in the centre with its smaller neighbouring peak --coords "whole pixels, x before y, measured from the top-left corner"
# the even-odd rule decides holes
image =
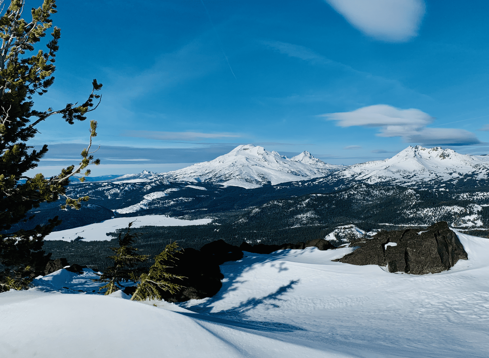
[[[321,177],[344,166],[327,164],[304,151],[288,158],[276,151],[252,144],[238,146],[209,162],[194,164],[167,173],[143,171],[119,177],[115,183],[138,183],[166,179],[172,182],[211,182],[246,189]]]

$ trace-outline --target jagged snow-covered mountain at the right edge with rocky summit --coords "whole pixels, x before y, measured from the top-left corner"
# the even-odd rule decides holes
[[[441,147],[407,147],[390,159],[352,165],[336,172],[334,178],[394,183],[448,180],[470,174],[486,179],[489,156],[459,154]]]

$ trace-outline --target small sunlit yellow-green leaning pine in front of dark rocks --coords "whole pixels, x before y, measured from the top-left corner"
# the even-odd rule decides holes
[[[139,276],[139,284],[134,292],[131,300],[144,301],[146,299],[158,299],[162,300],[163,291],[169,291],[171,294],[177,293],[183,286],[171,282],[175,278],[185,278],[184,276],[178,276],[167,272],[167,268],[173,262],[175,262],[175,253],[177,252],[178,245],[176,242],[166,245],[163,252],[155,256],[155,264],[150,267],[148,274],[141,274]],[[134,277],[134,280],[137,280]]]

